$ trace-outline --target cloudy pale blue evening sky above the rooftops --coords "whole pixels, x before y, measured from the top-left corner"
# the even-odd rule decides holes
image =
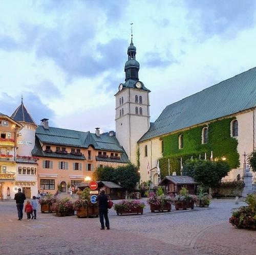
[[[115,130],[131,41],[139,79],[162,110],[256,66],[255,0],[0,0],[0,112],[37,124]]]

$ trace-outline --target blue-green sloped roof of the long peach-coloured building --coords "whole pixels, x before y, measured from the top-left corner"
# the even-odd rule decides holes
[[[43,126],[38,126],[35,134],[38,140],[44,144],[81,148],[88,148],[91,145],[96,150],[124,152],[123,148],[119,145],[117,138],[115,136],[109,136],[108,133],[97,136],[89,131],[81,132],[55,127],[45,129]]]

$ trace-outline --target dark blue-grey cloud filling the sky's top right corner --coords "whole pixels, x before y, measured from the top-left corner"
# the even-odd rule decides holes
[[[199,36],[202,37],[225,35],[230,38],[250,28],[254,22],[254,0],[184,0],[184,4],[187,17],[193,22],[191,28],[194,30],[197,24],[202,32]]]

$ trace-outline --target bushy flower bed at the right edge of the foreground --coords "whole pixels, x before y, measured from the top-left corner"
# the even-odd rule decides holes
[[[233,210],[229,223],[237,228],[256,230],[256,194],[248,195],[245,201],[248,206]]]

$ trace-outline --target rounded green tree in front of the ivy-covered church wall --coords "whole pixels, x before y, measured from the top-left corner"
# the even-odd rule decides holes
[[[225,161],[188,160],[183,168],[183,175],[188,175],[203,186],[214,188],[230,171]]]

